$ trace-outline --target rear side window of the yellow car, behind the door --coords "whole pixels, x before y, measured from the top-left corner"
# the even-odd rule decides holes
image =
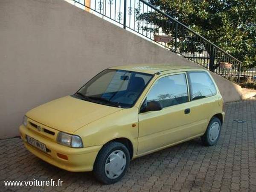
[[[216,94],[215,85],[204,71],[188,72],[191,100],[201,99]]]

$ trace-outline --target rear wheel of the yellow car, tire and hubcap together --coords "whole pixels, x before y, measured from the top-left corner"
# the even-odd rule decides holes
[[[215,145],[221,134],[221,121],[217,117],[213,117],[204,135],[201,137],[202,142],[207,146]]]

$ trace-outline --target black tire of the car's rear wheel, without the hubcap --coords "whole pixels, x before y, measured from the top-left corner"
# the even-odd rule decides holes
[[[211,128],[211,126],[212,126],[213,123],[218,123],[219,126],[220,126],[220,127],[219,127],[220,130],[219,130],[218,137],[217,137],[217,139],[214,140],[214,141],[212,141],[212,140],[210,139],[210,128]],[[215,117],[215,116],[214,116],[214,117],[212,117],[212,119],[210,120],[209,125],[208,125],[207,130],[205,131],[204,135],[201,136],[201,140],[202,140],[202,142],[204,143],[204,145],[212,146],[212,145],[215,145],[215,144],[218,142],[218,140],[219,140],[219,138],[220,138],[220,135],[221,135],[221,121],[220,121],[220,119],[219,119],[218,117]]]

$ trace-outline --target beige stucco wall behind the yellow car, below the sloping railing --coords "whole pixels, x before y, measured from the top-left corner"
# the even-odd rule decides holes
[[[0,138],[19,135],[29,109],[133,63],[194,65],[63,0],[0,0]],[[226,102],[240,99],[240,87],[214,77]]]

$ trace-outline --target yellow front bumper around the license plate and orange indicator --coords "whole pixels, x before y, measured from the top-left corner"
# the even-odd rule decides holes
[[[26,135],[33,137],[35,140],[38,140],[41,143],[44,143],[49,151],[44,153],[27,143]],[[100,148],[102,148],[102,145],[85,148],[70,148],[64,145],[60,145],[55,141],[49,140],[48,138],[39,134],[36,134],[34,131],[29,130],[24,125],[20,125],[20,137],[23,140],[25,147],[32,154],[36,155],[47,163],[70,172],[92,171],[96,156]],[[59,158],[57,153],[67,155],[68,160]]]

